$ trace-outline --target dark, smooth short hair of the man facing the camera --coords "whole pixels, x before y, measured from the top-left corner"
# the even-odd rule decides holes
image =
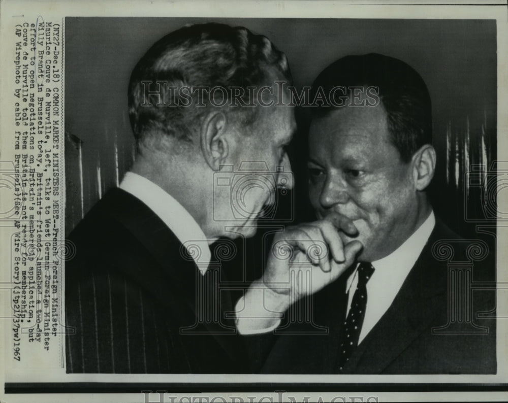
[[[345,56],[330,64],[312,84],[312,94],[322,87],[377,87],[377,95],[388,117],[391,142],[407,163],[423,145],[432,143],[432,105],[422,77],[411,66],[393,57],[369,53]],[[311,98],[313,99],[313,98]],[[333,105],[333,104],[332,104]],[[325,116],[336,108],[320,104],[314,116]]]

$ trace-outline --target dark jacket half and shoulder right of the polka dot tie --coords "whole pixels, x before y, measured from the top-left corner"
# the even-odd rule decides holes
[[[440,220],[388,311],[360,344],[347,372],[492,374],[496,372],[492,293],[473,292],[471,245]],[[488,252],[486,250],[485,252]],[[477,255],[477,257],[481,257]]]

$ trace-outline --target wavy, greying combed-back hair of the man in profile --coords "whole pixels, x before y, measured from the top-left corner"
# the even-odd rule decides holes
[[[205,23],[187,25],[157,41],[139,60],[129,82],[129,117],[138,146],[150,133],[162,132],[180,140],[192,141],[202,117],[213,106],[196,106],[199,91],[192,94],[192,104],[180,106],[182,87],[222,87],[231,95],[231,87],[263,85],[271,78],[268,68],[275,68],[282,78],[291,81],[285,55],[262,35],[244,27]],[[273,75],[273,73],[272,73]],[[159,102],[156,85],[164,82],[165,102]],[[144,83],[143,83],[144,82]],[[151,85],[150,102],[146,83]],[[153,88],[155,86],[155,88]],[[172,90],[169,90],[173,87]],[[176,88],[176,90],[175,90]],[[243,95],[243,99],[248,94]],[[143,105],[144,104],[144,105]],[[236,123],[250,125],[256,121],[257,107],[231,107]]]

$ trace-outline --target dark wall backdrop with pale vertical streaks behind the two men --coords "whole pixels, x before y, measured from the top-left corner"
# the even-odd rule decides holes
[[[297,89],[348,54],[382,53],[414,67],[433,103],[434,210],[465,238],[483,238],[494,248],[495,229],[493,237],[477,225],[491,222],[495,210],[495,181],[489,182],[495,170],[476,166],[490,167],[497,152],[495,20],[66,18],[67,234],[133,161],[127,86],[134,65],[156,40],[196,22],[242,25],[267,36],[288,56]],[[299,133],[290,151],[295,191],[279,198],[287,212],[294,197],[296,221],[313,217],[305,189],[307,112],[297,110]],[[469,185],[471,169],[478,180]],[[242,247],[266,246],[267,230],[258,232]],[[254,255],[249,262],[262,267]]]

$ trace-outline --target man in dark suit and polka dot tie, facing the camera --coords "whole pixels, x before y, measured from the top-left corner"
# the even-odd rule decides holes
[[[312,93],[325,96],[309,130],[310,202],[320,219],[351,219],[358,234],[341,239],[363,249],[308,298],[311,323],[283,323],[263,372],[495,374],[495,295],[470,287],[473,266],[492,268],[495,257],[433,213],[426,189],[436,153],[423,79],[398,59],[347,56]]]

